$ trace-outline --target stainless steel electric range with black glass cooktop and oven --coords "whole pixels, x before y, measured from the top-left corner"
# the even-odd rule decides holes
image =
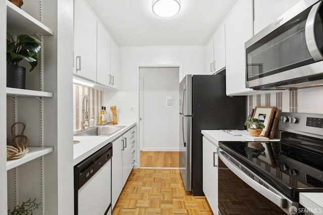
[[[300,193],[323,192],[323,115],[281,112],[279,131],[280,141],[219,142],[221,214],[304,214]]]

